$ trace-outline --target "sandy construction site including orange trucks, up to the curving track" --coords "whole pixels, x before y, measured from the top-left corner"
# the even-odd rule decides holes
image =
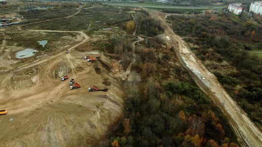
[[[1,146],[81,147],[103,136],[123,109],[114,61],[100,51],[75,50],[91,39],[81,31],[5,28],[0,31]],[[25,38],[13,44],[16,34]],[[52,34],[57,40],[49,40]],[[33,36],[46,46],[33,43]],[[27,40],[36,50],[15,57]]]

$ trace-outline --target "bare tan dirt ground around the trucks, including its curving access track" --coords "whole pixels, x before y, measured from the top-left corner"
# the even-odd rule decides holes
[[[97,74],[94,63],[86,62],[82,53],[74,50],[89,40],[85,33],[28,31],[76,32],[84,39],[65,48],[69,54],[63,51],[1,74],[0,109],[8,109],[8,114],[0,116],[0,146],[91,146],[121,115],[123,88],[103,66],[98,65],[102,73]],[[0,51],[4,47],[5,42]],[[60,81],[65,75],[74,78],[81,88],[70,90],[69,80]],[[102,84],[105,78],[109,78],[110,86]],[[91,85],[109,90],[88,92]]]

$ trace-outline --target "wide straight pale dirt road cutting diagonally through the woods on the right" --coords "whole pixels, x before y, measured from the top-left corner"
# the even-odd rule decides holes
[[[229,96],[219,84],[213,73],[209,72],[202,62],[191,52],[187,44],[176,35],[164,16],[158,16],[165,27],[165,40],[176,48],[176,54],[185,67],[193,76],[197,85],[209,95],[229,118],[242,147],[262,147],[262,132],[247,117],[246,113]]]

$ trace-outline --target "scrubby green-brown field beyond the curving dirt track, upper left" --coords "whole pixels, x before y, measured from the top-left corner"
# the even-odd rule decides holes
[[[71,18],[59,19],[25,26],[25,29],[51,29],[51,30],[81,30],[88,34],[103,28],[110,28],[132,20],[132,16],[124,13],[123,8],[99,7],[82,9],[78,15]],[[127,10],[128,11],[128,10]],[[59,24],[59,25],[57,25]]]

